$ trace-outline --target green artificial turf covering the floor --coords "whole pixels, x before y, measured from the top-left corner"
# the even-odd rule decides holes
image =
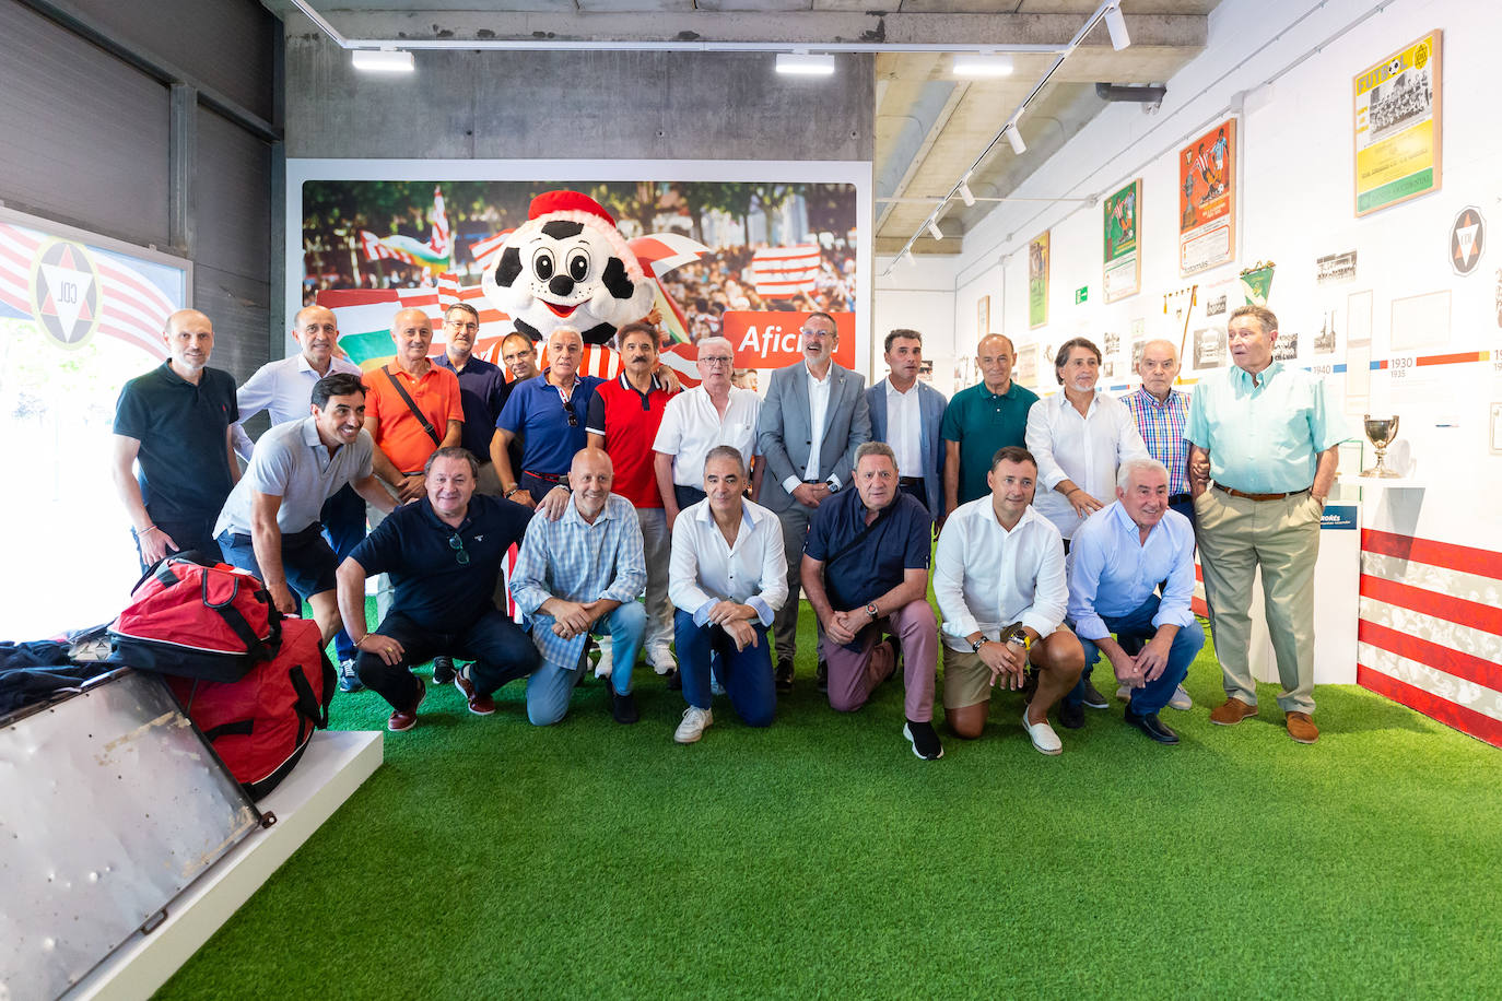
[[[1110,711],[1036,753],[1020,696],[924,762],[892,681],[856,714],[799,677],[771,729],[725,699],[679,747],[589,680],[568,719],[451,686],[161,998],[1496,995],[1502,756],[1377,695],[1316,690],[1317,744],[1214,726],[1206,644],[1161,747]],[[424,668],[421,674],[427,675]],[[1107,695],[1108,666],[1098,668]],[[369,692],[336,728],[379,728]],[[942,714],[942,710],[939,710]],[[936,720],[939,722],[939,720]]]

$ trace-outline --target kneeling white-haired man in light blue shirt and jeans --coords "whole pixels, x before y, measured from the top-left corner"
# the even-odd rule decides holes
[[[1193,593],[1194,528],[1169,509],[1169,470],[1157,459],[1123,461],[1116,503],[1074,533],[1069,620],[1084,647],[1086,669],[1096,651],[1104,653],[1131,693],[1126,722],[1161,744],[1179,743],[1158,713],[1205,645],[1205,630],[1190,609]],[[1122,648],[1133,639],[1145,641],[1140,653]],[[1065,726],[1084,725],[1083,701],[1081,678],[1059,713]]]

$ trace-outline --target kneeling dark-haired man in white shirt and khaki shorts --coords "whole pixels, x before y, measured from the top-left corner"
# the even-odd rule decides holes
[[[979,737],[991,689],[1020,690],[1027,665],[1038,689],[1023,728],[1045,755],[1063,752],[1048,710],[1074,687],[1084,651],[1063,626],[1069,591],[1059,530],[1029,504],[1038,464],[1026,449],[996,452],[990,497],[960,504],[939,533],[934,597],[943,615],[943,705],[949,728]]]

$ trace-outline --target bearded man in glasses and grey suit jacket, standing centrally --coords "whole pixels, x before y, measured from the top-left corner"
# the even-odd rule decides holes
[[[865,378],[832,360],[840,345],[834,317],[811,314],[799,332],[799,342],[804,360],[772,372],[757,420],[762,458],[768,467],[762,504],[783,522],[787,554],[787,602],[772,620],[778,692],[793,690],[802,582],[799,569],[808,519],[820,501],[850,483],[855,450],[871,440]]]

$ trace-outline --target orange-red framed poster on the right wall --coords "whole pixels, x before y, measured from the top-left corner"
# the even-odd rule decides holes
[[[1179,150],[1179,276],[1236,260],[1236,119]]]

